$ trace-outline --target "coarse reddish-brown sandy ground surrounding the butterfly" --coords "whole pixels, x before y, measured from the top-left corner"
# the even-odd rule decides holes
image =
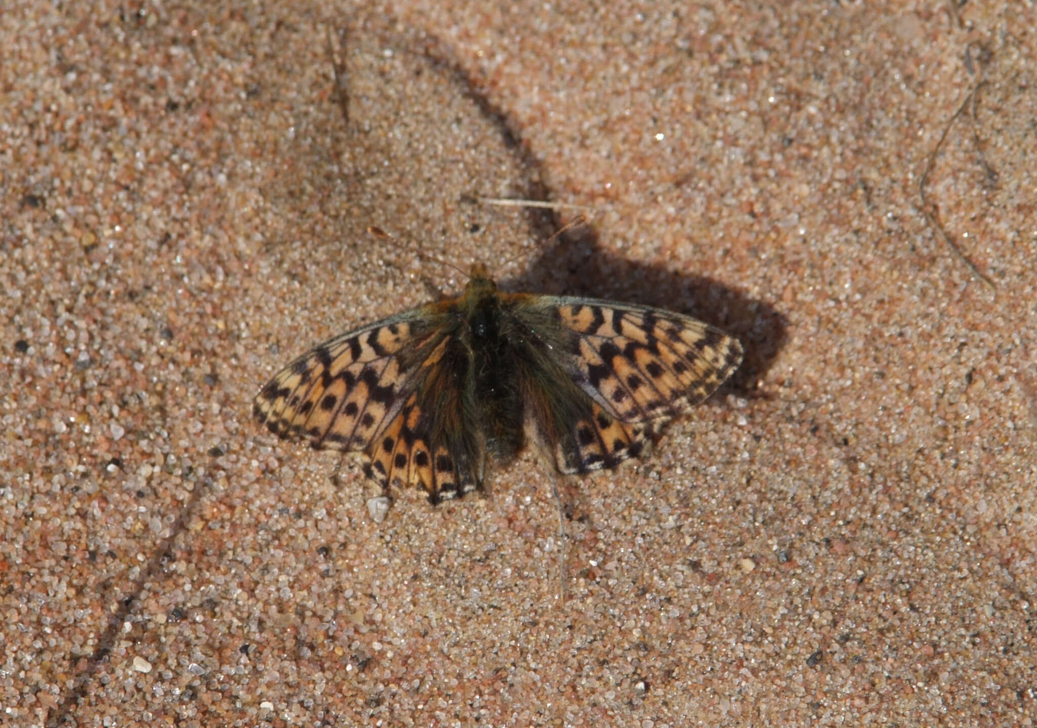
[[[0,723],[1032,725],[1034,8],[596,5],[5,3]],[[251,398],[436,257],[746,364],[374,523]]]

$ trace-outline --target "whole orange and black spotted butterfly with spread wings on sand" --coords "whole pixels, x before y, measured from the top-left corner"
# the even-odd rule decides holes
[[[533,444],[562,474],[614,468],[741,362],[720,329],[649,306],[508,293],[485,265],[461,296],[330,339],[278,372],[254,413],[314,448],[362,451],[383,492],[436,504],[481,489]]]

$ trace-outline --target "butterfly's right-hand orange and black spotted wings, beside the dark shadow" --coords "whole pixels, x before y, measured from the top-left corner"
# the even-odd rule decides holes
[[[662,424],[712,394],[741,362],[737,339],[672,311],[568,297],[523,303],[513,310],[540,352],[537,366],[557,369],[526,377],[527,429],[562,473],[641,454]]]

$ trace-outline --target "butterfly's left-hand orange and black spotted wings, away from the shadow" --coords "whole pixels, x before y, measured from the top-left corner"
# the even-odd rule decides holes
[[[433,503],[479,487],[485,452],[461,407],[464,352],[451,302],[431,304],[326,341],[279,371],[254,414],[285,439],[361,450],[388,488],[420,485]]]

